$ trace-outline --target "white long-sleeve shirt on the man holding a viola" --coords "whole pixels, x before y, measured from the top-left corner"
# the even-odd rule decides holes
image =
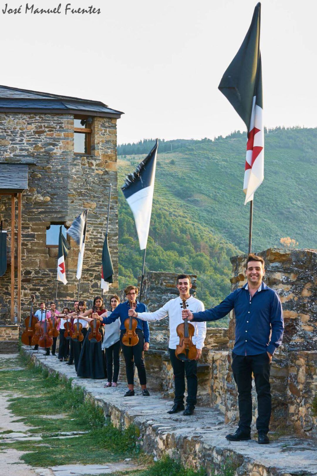
[[[188,309],[192,312],[204,311],[205,307],[199,299],[195,297],[189,297],[186,299]],[[170,342],[168,347],[170,349],[176,349],[176,345],[179,344],[179,337],[176,332],[176,327],[179,324],[183,324],[182,319],[183,301],[180,297],[171,299],[163,307],[154,312],[138,312],[137,317],[143,321],[159,321],[164,317],[169,317],[170,322]],[[195,327],[195,333],[192,337],[192,343],[195,344],[197,349],[202,349],[204,346],[204,340],[206,337],[206,323],[205,322],[189,322],[188,324]]]

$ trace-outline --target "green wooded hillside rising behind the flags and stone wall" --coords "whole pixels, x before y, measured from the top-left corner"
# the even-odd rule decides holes
[[[152,141],[144,145],[150,150]],[[144,157],[137,153],[144,145],[119,146],[119,152],[132,152],[119,157],[119,186]],[[230,256],[248,248],[249,205],[243,205],[242,191],[246,135],[160,145],[165,152],[157,159],[146,268],[198,274],[198,297],[213,306],[230,291]],[[265,134],[265,179],[254,201],[253,251],[280,246],[285,236],[295,238],[300,248],[317,248],[316,157],[317,129],[279,128]],[[121,286],[141,274],[138,248],[134,219],[119,191]]]

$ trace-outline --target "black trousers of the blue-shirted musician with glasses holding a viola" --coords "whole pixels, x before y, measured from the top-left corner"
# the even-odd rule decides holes
[[[120,343],[123,355],[125,357],[125,372],[126,379],[129,385],[134,385],[134,364],[138,371],[138,376],[140,380],[140,385],[146,385],[146,372],[144,367],[143,359],[143,346],[144,346],[144,336],[141,329],[135,329],[136,334],[139,337],[139,342],[136,346],[125,346],[122,344],[121,339],[125,334],[125,331],[120,333]]]

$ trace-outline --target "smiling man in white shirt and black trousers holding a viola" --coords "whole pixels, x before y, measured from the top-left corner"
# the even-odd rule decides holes
[[[134,309],[130,309],[129,316],[138,317],[144,321],[159,321],[164,317],[169,317],[170,325],[170,341],[169,341],[169,353],[171,357],[171,363],[174,372],[175,383],[175,398],[174,405],[167,413],[177,413],[184,410],[184,392],[185,392],[185,374],[187,379],[187,393],[186,409],[183,415],[192,415],[195,405],[197,403],[197,361],[202,355],[202,347],[206,337],[206,323],[195,322],[195,331],[192,337],[192,343],[197,348],[197,354],[195,360],[179,360],[175,356],[176,345],[179,344],[179,337],[176,332],[176,327],[183,323],[182,308],[183,300],[186,301],[186,305],[190,310],[195,309],[193,312],[203,311],[204,305],[202,301],[199,301],[195,297],[190,295],[190,289],[192,288],[191,279],[188,275],[180,274],[177,276],[177,285],[180,295],[175,299],[171,299],[163,307],[155,312],[135,312]]]

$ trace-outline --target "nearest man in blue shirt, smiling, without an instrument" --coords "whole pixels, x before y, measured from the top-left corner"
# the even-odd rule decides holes
[[[243,288],[233,291],[212,309],[196,313],[183,310],[183,318],[196,322],[215,321],[234,309],[236,335],[231,367],[238,387],[240,419],[237,431],[226,438],[230,441],[251,438],[253,373],[258,396],[258,442],[267,444],[271,416],[270,363],[282,343],[283,311],[278,293],[262,282],[264,260],[250,253],[245,267],[248,282]]]

